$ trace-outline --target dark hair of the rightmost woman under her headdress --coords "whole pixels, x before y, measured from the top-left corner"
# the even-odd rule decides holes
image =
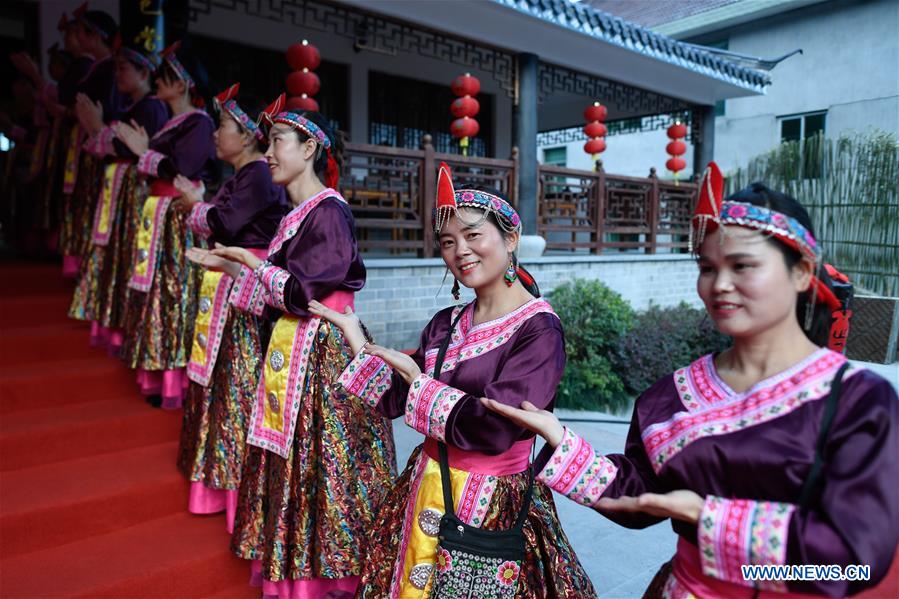
[[[764,183],[750,183],[748,187],[728,196],[725,201],[743,202],[745,204],[752,204],[753,206],[762,206],[785,214],[791,218],[795,218],[799,221],[799,224],[808,230],[812,237],[817,239],[812,219],[802,204],[785,193],[770,189]],[[774,247],[781,251],[787,269],[792,270],[794,266],[802,261],[802,254],[776,237],[768,237],[768,243],[773,244]],[[833,281],[823,267],[817,269],[815,276],[833,291]],[[811,294],[811,289],[799,294],[799,298],[796,302],[796,318],[799,319],[800,326],[803,327],[806,337],[808,337],[812,343],[826,347],[830,337],[830,325],[833,320],[830,308],[820,302],[811,306],[813,311],[811,315],[811,326],[807,329],[805,328]]]

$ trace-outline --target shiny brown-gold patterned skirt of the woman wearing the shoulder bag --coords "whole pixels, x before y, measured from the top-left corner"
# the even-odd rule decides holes
[[[419,526],[417,522],[406,520],[410,517],[409,506],[415,501],[426,460],[428,458],[419,446],[412,452],[406,470],[396,485],[378,506],[363,554],[364,567],[357,598],[394,599],[401,596],[405,599],[414,596],[425,599],[430,596],[433,585],[426,582],[427,578],[414,583],[411,580],[394,580],[397,576],[395,572],[402,570],[398,568],[398,563],[406,555],[410,537],[414,539],[408,531]],[[485,530],[509,530],[521,510],[528,488],[528,476],[524,472],[497,476],[495,484],[480,527]],[[562,530],[552,491],[543,483],[534,483],[524,535],[525,559],[521,564],[516,598],[596,597],[593,584]],[[400,587],[402,595],[399,595]]]

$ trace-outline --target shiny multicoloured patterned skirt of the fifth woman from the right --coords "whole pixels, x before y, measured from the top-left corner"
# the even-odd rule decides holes
[[[143,203],[141,203],[141,208]],[[122,359],[129,368],[175,370],[190,359],[202,268],[185,252],[194,237],[186,215],[169,206],[160,233],[153,281],[146,293],[131,290]]]

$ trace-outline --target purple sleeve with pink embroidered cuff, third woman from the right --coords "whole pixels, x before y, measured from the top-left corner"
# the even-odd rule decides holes
[[[309,315],[309,300],[322,300],[338,289],[358,291],[365,282],[364,275],[351,273],[360,261],[349,209],[336,199],[325,201],[306,218],[288,243],[286,268],[260,272],[269,305],[302,317]]]

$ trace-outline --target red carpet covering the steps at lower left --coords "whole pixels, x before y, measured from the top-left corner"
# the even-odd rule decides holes
[[[186,511],[181,412],[88,347],[57,267],[0,278],[0,597],[258,597],[224,516]]]

